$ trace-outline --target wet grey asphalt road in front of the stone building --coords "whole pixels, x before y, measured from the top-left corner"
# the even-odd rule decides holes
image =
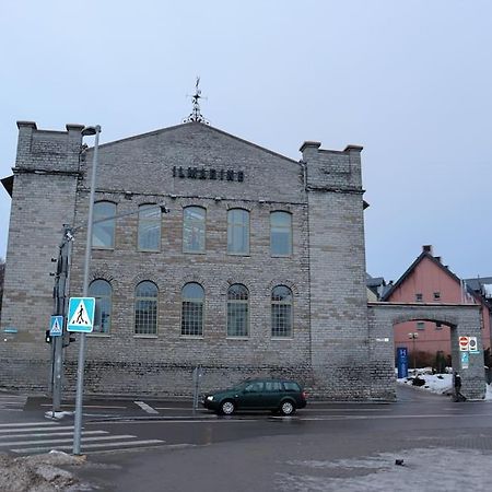
[[[3,425],[0,446],[5,443],[2,430],[8,430],[10,436],[25,435],[22,442],[49,441],[24,434],[43,420],[46,410],[43,405],[47,405],[44,401],[30,399],[20,411],[0,410]],[[83,434],[82,452],[87,453],[89,462],[75,472],[96,485],[96,490],[489,488],[487,470],[492,459],[489,402],[455,403],[446,397],[402,387],[396,403],[312,402],[291,418],[268,413],[224,418],[204,411],[194,414],[185,401],[143,403],[94,400],[84,406],[84,433],[89,441],[84,441]],[[67,406],[70,410],[69,402]],[[36,433],[50,434],[72,423],[70,415],[56,422],[44,420],[49,432]],[[33,426],[16,432],[11,427],[15,422]],[[70,436],[61,437],[65,438],[70,441]],[[16,440],[9,437],[7,442]],[[61,444],[69,448],[70,445]],[[35,449],[44,444],[27,446]],[[2,450],[13,453],[9,446]],[[396,459],[403,459],[403,466],[396,466]]]

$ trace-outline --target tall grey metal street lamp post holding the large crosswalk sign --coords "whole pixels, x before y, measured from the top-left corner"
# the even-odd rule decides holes
[[[91,250],[92,250],[92,222],[94,215],[94,195],[97,172],[97,157],[99,147],[101,126],[85,127],[82,129],[82,136],[95,136],[94,155],[92,161],[91,175],[91,194],[89,196],[89,216],[87,216],[87,239],[85,243],[85,260],[84,260],[84,283],[82,296],[86,297],[89,292],[89,271],[91,268]],[[77,397],[75,397],[75,422],[73,429],[73,454],[80,455],[80,442],[82,433],[82,400],[84,390],[84,365],[85,365],[85,333],[79,337],[79,365],[77,367]]]

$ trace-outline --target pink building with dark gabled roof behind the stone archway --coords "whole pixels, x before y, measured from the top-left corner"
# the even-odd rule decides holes
[[[432,255],[432,246],[423,246],[422,254],[385,294],[383,301],[395,303],[479,304],[483,350],[491,347],[490,309],[482,297],[466,289],[440,257]],[[395,349],[406,347],[410,366],[432,365],[437,353],[450,360],[449,327],[426,320],[395,326]]]

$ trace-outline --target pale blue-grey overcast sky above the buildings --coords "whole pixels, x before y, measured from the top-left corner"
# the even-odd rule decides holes
[[[17,120],[101,125],[101,143],[181,122],[200,75],[215,128],[298,160],[364,147],[367,272],[431,244],[492,276],[492,1],[3,0],[0,177]],[[0,189],[0,257],[10,197]]]

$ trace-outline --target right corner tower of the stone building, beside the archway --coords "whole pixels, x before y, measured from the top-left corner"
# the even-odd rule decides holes
[[[301,147],[309,208],[312,365],[320,394],[368,398],[362,147]]]

